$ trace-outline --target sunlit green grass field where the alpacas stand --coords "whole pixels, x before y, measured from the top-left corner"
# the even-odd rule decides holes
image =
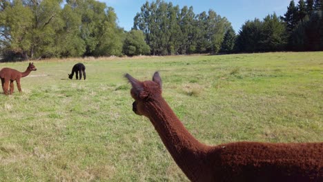
[[[79,61],[86,81],[68,79]],[[159,70],[164,99],[203,143],[323,141],[323,52],[34,64],[23,93],[14,84],[0,94],[0,181],[187,181],[133,113],[126,72],[146,80]]]

